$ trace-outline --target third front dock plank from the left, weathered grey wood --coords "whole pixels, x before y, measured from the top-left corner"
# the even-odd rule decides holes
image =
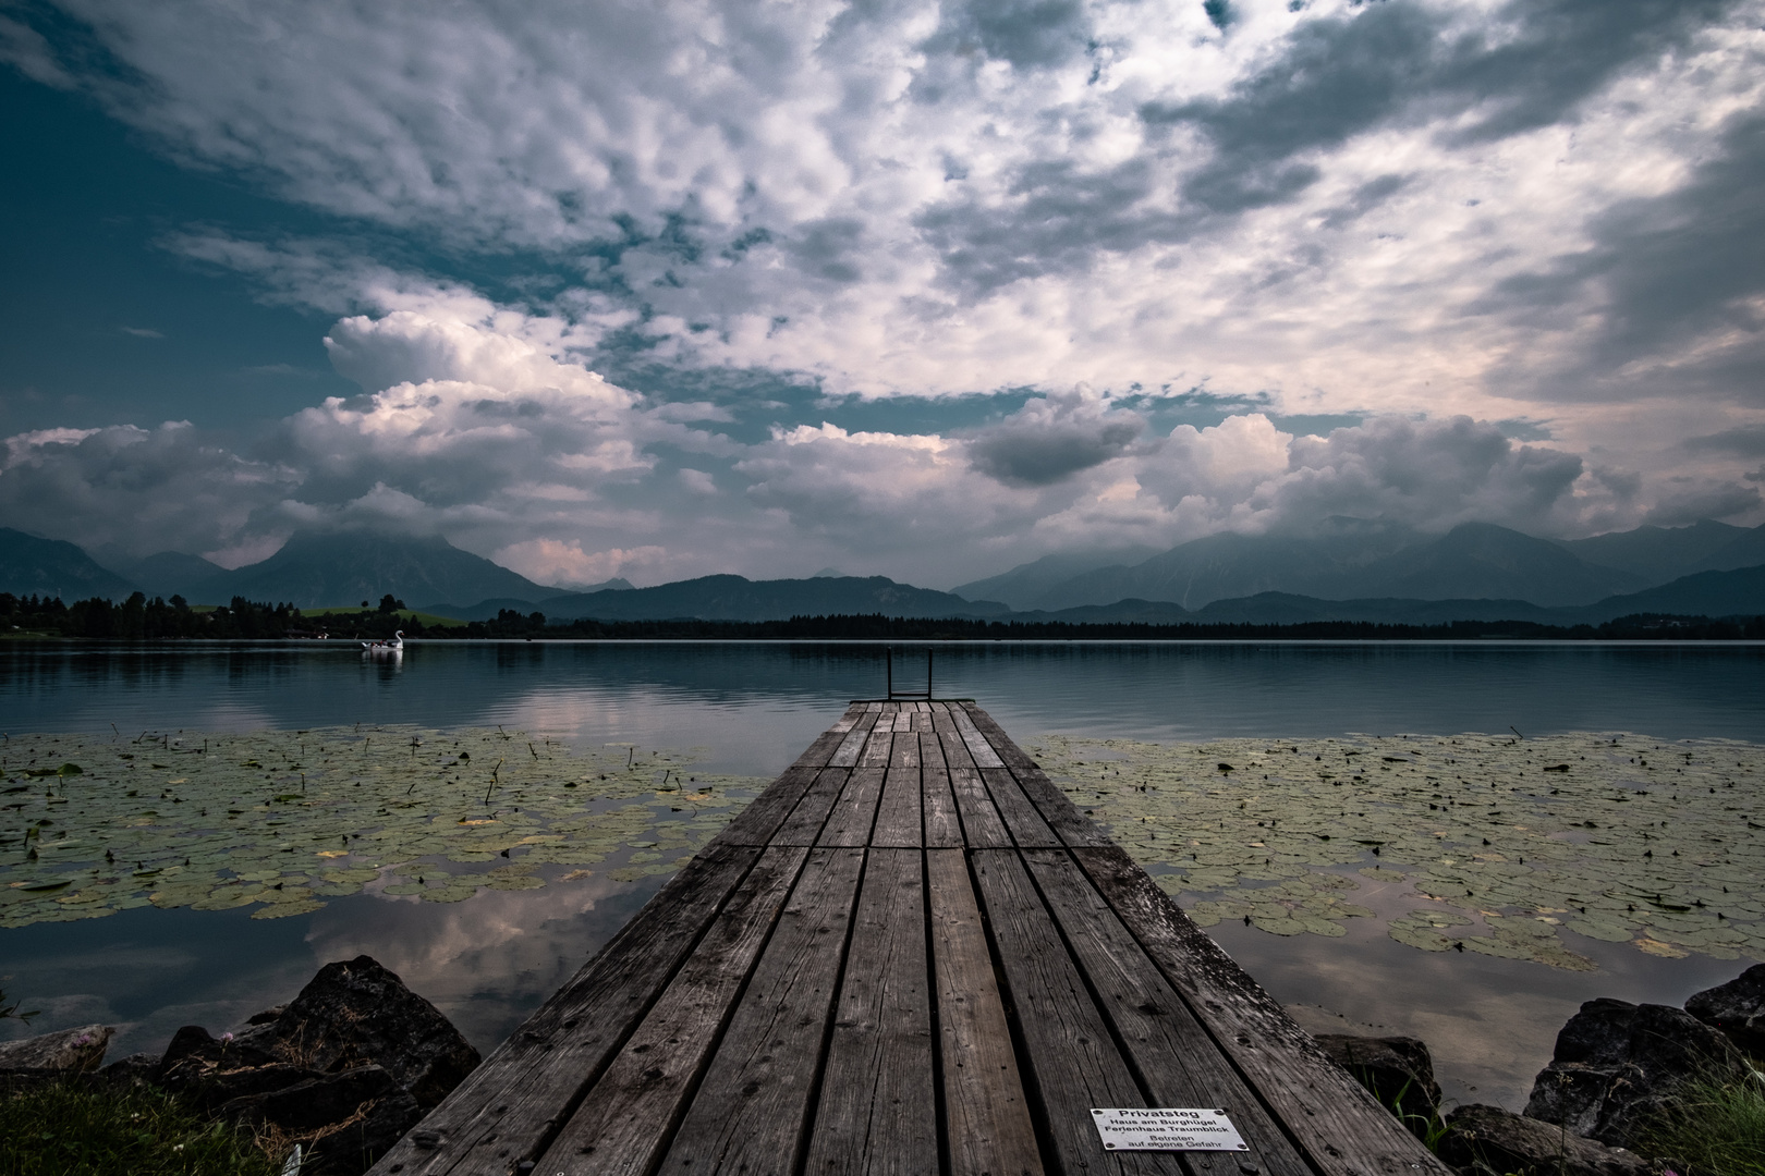
[[[796,1171],[863,864],[810,852],[660,1171]]]

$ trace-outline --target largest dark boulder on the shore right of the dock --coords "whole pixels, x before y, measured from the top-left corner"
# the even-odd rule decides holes
[[[1557,1033],[1525,1113],[1626,1148],[1687,1083],[1739,1067],[1728,1038],[1682,1009],[1590,1000]]]

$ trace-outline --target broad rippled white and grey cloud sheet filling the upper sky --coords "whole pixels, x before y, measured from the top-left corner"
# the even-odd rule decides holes
[[[664,365],[1564,432],[1647,379],[1760,386],[1761,0],[58,7],[21,69],[286,199],[540,257],[581,344]]]

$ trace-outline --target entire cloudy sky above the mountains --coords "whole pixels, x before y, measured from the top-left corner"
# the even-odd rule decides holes
[[[0,525],[1765,522],[1765,0],[0,4]]]

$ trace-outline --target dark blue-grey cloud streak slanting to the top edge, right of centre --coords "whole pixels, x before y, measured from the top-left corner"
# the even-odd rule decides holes
[[[1389,123],[1470,122],[1447,136],[1472,145],[1571,118],[1576,104],[1656,62],[1719,19],[1731,0],[1514,0],[1484,26],[1405,0],[1299,23],[1283,51],[1221,97],[1147,104],[1153,150],[1103,171],[1040,159],[1015,176],[1001,210],[953,201],[916,224],[943,254],[946,284],[985,293],[1082,270],[1098,252],[1181,242],[1220,217],[1297,199],[1324,171],[1315,155]],[[1491,28],[1495,32],[1491,32]],[[1177,180],[1172,212],[1161,162],[1186,148],[1163,130],[1200,132],[1213,155]],[[1333,210],[1341,227],[1401,185],[1386,176]]]

